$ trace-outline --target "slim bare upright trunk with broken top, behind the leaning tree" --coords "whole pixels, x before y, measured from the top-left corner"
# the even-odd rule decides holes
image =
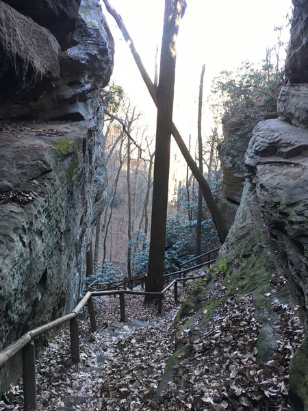
[[[199,85],[199,101],[198,101],[198,163],[199,171],[203,175],[203,150],[202,150],[202,99],[203,99],[203,80],[204,80],[205,64],[202,66],[200,85]],[[201,254],[201,226],[202,226],[202,189],[198,186],[198,213],[197,213],[197,227],[196,227],[196,255]],[[197,264],[201,264],[201,258],[198,258]]]

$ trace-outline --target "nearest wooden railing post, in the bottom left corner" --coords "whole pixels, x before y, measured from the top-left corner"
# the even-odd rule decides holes
[[[36,410],[36,352],[34,341],[23,347],[24,410]]]

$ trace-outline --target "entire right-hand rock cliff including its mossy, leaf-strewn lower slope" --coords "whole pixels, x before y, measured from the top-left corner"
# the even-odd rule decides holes
[[[253,130],[235,221],[216,266],[203,284],[195,287],[177,316],[176,322],[186,322],[177,334],[178,350],[167,364],[158,396],[169,393],[168,380],[179,380],[177,358],[194,360],[200,355],[196,347],[204,345],[207,360],[203,363],[207,370],[219,366],[222,375],[213,397],[202,398],[211,403],[215,403],[215,396],[223,400],[221,406],[213,409],[227,406],[230,410],[264,410],[272,406],[285,410],[288,401],[292,410],[308,410],[308,1],[293,3],[285,64],[287,84],[281,89],[277,105],[280,118],[261,121]],[[240,329],[235,327],[224,334],[223,321],[231,317],[234,301],[238,311],[244,312],[241,305],[248,297],[252,297],[253,317],[250,321],[243,317],[238,325],[244,324],[242,332],[247,338],[255,321],[259,330],[253,348],[253,368],[247,365],[247,371],[244,364],[248,364],[246,358],[250,355],[248,340],[244,349]],[[247,301],[245,304],[248,307]],[[291,324],[295,325],[292,331]],[[285,347],[293,352],[282,356]],[[234,368],[230,364],[237,355]],[[264,390],[264,385],[259,385],[253,377],[256,369],[262,377],[261,384],[270,382],[272,388]],[[280,386],[279,379],[273,378],[281,373],[289,374],[288,381],[285,378],[287,390],[285,382]],[[197,380],[198,373],[193,374]],[[261,393],[256,396],[259,388]],[[279,395],[281,400],[275,397]]]

